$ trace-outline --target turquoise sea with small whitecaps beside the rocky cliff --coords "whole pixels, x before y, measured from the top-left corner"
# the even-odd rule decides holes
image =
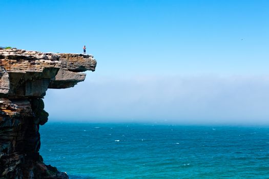
[[[47,123],[40,154],[70,178],[269,178],[269,128]]]

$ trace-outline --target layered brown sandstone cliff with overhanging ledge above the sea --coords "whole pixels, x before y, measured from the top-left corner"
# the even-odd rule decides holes
[[[48,121],[42,98],[48,88],[73,87],[94,71],[91,55],[0,50],[0,179],[68,178],[45,165],[39,125]]]

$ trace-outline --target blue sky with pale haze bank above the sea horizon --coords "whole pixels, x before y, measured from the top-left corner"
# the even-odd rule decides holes
[[[97,60],[85,82],[47,92],[52,121],[269,118],[268,1],[2,0],[0,14],[0,46],[81,53],[86,45]]]

